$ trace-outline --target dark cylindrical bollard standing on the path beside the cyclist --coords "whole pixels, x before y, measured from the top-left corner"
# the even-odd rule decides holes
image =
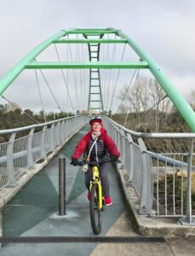
[[[66,215],[66,159],[59,158],[59,215]]]

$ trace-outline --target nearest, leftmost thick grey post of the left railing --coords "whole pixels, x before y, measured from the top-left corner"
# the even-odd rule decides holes
[[[8,186],[7,187],[15,187],[17,183],[15,181],[14,176],[14,138],[16,133],[12,133],[11,137],[9,138],[9,144],[7,149],[7,172],[8,172]]]

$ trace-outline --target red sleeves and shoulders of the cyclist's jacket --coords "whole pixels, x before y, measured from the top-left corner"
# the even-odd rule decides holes
[[[93,132],[92,130],[89,131],[84,137],[81,138],[79,143],[77,143],[75,152],[74,152],[74,154],[72,154],[73,159],[78,159],[83,154],[83,152],[86,150],[89,140],[90,140],[90,137],[92,135],[92,132]],[[104,143],[105,147],[107,148],[109,154],[118,155],[118,157],[119,157],[120,153],[118,152],[118,148],[117,148],[116,144],[114,143],[114,141],[112,140],[112,138],[107,135],[107,131],[104,128],[101,128],[100,132],[101,132],[102,142]]]

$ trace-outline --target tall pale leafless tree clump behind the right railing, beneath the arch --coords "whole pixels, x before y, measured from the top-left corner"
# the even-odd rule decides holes
[[[140,77],[130,87],[124,84],[119,98],[123,100],[123,110],[126,109],[126,113],[134,116],[130,124],[132,129],[137,130],[142,126],[146,130],[146,126],[150,125],[152,130],[155,127],[155,131],[159,131],[159,128],[164,131],[170,101],[165,98],[165,93],[156,80]],[[151,109],[154,111],[148,114]]]

